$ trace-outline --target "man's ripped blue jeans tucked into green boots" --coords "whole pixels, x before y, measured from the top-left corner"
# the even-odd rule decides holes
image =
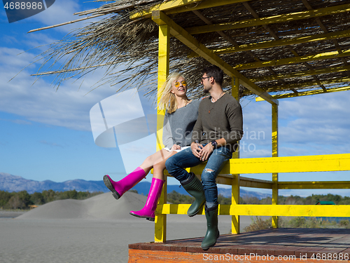
[[[216,176],[220,173],[225,163],[231,158],[232,151],[230,151],[229,147],[214,149],[209,156],[207,165],[202,171],[202,184],[208,208],[218,205]],[[182,183],[190,177],[190,174],[183,168],[197,166],[200,163],[202,163],[202,161],[193,155],[192,149],[187,148],[167,159],[165,166],[169,174]]]

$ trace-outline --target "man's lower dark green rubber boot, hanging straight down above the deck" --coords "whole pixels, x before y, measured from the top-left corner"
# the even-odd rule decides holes
[[[202,249],[208,250],[211,247],[214,247],[216,240],[220,236],[218,231],[218,205],[207,208],[205,205],[205,218],[207,219],[207,234],[205,234],[202,241]]]

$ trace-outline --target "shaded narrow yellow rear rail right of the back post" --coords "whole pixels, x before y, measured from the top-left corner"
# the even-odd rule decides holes
[[[350,189],[349,181],[279,182],[279,189]]]

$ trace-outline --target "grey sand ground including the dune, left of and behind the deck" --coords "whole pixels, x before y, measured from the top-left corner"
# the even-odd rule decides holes
[[[61,200],[23,215],[0,218],[0,262],[127,262],[128,244],[154,241],[154,223],[129,215],[145,196],[127,192],[116,201],[110,193],[84,201]],[[241,229],[251,223],[241,217]],[[219,217],[222,234],[230,216]],[[168,215],[167,239],[204,236],[204,215]]]

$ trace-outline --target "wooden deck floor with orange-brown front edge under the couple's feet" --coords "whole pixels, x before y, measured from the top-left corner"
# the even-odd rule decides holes
[[[266,229],[225,234],[214,248],[203,238],[129,245],[134,262],[349,262],[350,229]],[[339,260],[341,259],[341,260]]]

